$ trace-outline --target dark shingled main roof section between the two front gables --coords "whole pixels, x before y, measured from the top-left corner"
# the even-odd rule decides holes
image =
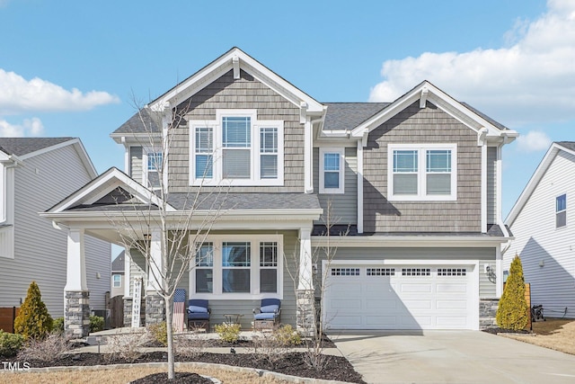
[[[323,103],[327,105],[323,130],[354,129],[390,103]]]

